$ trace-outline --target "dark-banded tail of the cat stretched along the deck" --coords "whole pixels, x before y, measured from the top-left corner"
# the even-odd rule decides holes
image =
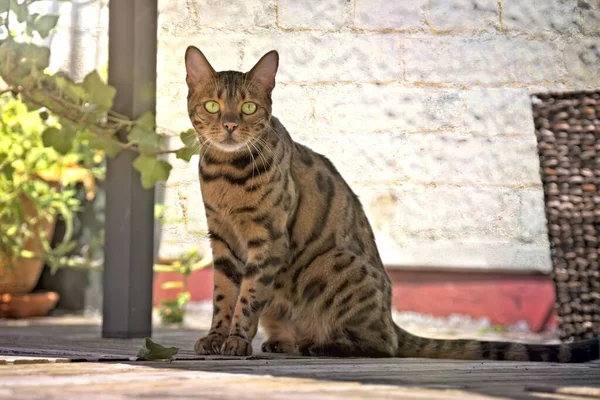
[[[582,363],[600,359],[600,338],[561,344],[443,340],[414,336],[396,326],[397,357]]]

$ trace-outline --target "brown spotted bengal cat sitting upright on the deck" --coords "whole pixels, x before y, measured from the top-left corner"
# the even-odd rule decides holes
[[[185,54],[188,111],[214,258],[211,329],[198,354],[247,356],[260,323],[265,352],[584,362],[598,341],[530,345],[434,340],[396,326],[392,284],[358,197],[324,156],[271,115],[279,64],[216,72]],[[359,144],[357,144],[359,145]]]

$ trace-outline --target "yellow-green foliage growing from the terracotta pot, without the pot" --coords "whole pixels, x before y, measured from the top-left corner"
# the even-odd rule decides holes
[[[78,265],[81,260],[66,256],[75,246],[73,215],[81,205],[75,186],[82,183],[86,197],[93,198],[96,180],[104,175],[103,158],[78,138],[60,151],[47,147],[60,124],[18,99],[0,96],[0,109],[0,269],[23,258],[44,259],[54,268]],[[59,216],[66,232],[51,248],[48,227]],[[32,251],[39,247],[32,241],[39,241],[43,253]]]

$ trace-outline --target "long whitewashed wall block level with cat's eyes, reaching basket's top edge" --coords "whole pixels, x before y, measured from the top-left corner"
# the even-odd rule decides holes
[[[315,126],[329,134],[462,131],[533,135],[531,102],[521,89],[434,89],[399,85],[314,88]]]

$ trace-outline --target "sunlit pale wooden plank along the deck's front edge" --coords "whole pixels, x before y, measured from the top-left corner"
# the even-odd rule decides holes
[[[151,367],[112,369],[101,364],[0,368],[0,395],[7,398],[210,398],[210,399],[443,399],[482,400],[487,395],[452,388],[396,387],[315,379],[172,371]],[[24,368],[27,367],[27,368]],[[11,396],[13,395],[13,396]],[[498,399],[498,397],[493,397]]]

